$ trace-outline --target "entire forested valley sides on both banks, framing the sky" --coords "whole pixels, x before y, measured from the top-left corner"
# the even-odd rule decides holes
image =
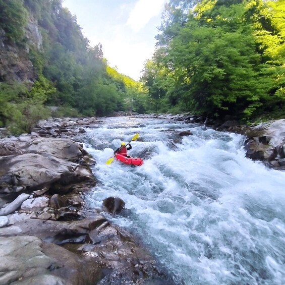
[[[136,82],[89,45],[62,0],[0,0],[0,127],[120,110],[285,117],[284,0],[170,0],[156,39]]]

